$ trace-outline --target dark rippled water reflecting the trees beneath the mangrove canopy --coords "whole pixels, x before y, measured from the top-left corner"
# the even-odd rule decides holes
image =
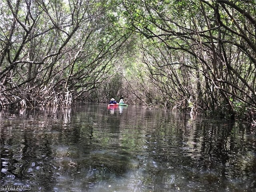
[[[1,191],[6,186],[256,191],[256,134],[235,122],[139,106],[2,111]]]

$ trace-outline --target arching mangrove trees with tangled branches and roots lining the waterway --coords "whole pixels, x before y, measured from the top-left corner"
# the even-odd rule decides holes
[[[0,2],[0,108],[159,106],[256,126],[255,1]]]

